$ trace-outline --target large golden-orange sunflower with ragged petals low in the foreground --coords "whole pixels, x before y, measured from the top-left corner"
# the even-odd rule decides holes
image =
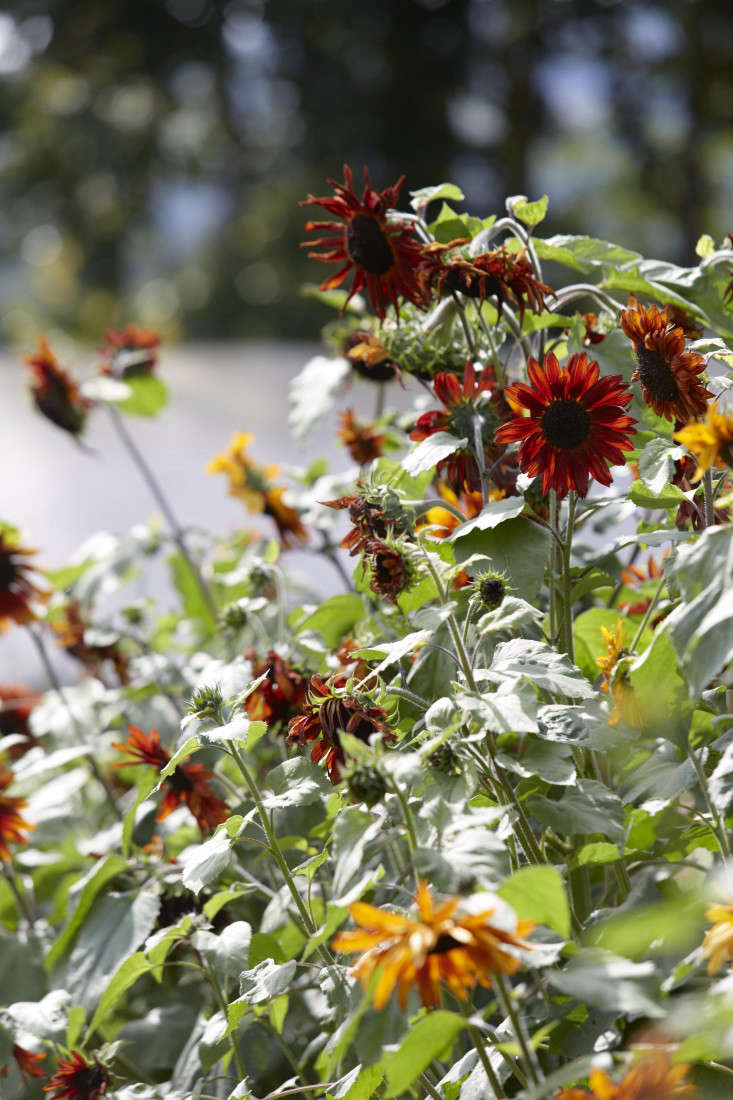
[[[529,949],[521,937],[532,932],[532,922],[519,921],[514,932],[502,928],[490,920],[494,905],[459,916],[460,898],[436,908],[430,888],[423,881],[415,900],[417,919],[354,902],[350,912],[360,931],[341,932],[331,942],[337,952],[364,953],[352,970],[364,988],[379,970],[375,1009],[384,1008],[396,987],[404,1011],[413,986],[417,986],[423,1004],[433,1009],[440,1003],[441,981],[464,1001],[477,982],[489,988],[492,974],[511,975],[521,968],[516,953]]]

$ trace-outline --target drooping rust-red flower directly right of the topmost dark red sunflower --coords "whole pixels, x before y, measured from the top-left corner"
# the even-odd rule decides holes
[[[524,252],[512,253],[502,245],[468,258],[456,251],[464,243],[457,240],[424,245],[418,276],[426,288],[435,286],[440,293],[447,287],[480,301],[493,294],[500,317],[506,301],[518,306],[521,317],[527,305],[535,314],[547,308],[545,295],[555,292],[539,282]]]

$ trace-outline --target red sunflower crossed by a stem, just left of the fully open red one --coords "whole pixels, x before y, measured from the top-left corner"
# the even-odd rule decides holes
[[[481,479],[474,457],[475,417],[481,419],[484,462],[486,466],[493,466],[502,453],[502,449],[495,449],[493,446],[496,440],[495,430],[512,411],[496,385],[493,367],[485,366],[477,376],[473,364],[468,362],[463,370],[462,383],[458,375],[441,372],[436,375],[433,386],[444,408],[423,413],[417,418],[409,438],[422,441],[437,431],[448,431],[452,436],[466,439],[468,443],[464,448],[438,463],[437,474],[439,477],[445,477],[457,494],[480,492]],[[490,394],[490,398],[479,404],[483,393]]]

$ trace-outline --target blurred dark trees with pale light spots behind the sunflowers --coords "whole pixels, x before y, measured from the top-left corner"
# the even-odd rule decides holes
[[[1,331],[316,336],[297,200],[344,161],[691,262],[732,228],[732,62],[730,0],[14,0]]]

